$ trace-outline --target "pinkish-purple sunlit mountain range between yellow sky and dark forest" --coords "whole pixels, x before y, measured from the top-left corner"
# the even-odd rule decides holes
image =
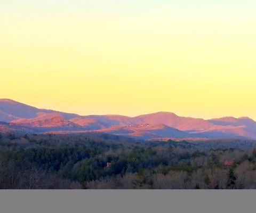
[[[0,132],[109,134],[153,138],[256,138],[256,121],[224,117],[205,120],[156,112],[137,117],[91,115],[38,109],[10,99],[0,99]]]

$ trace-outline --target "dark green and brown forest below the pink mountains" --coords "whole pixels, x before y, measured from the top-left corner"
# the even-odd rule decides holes
[[[256,189],[256,142],[0,134],[1,189]]]

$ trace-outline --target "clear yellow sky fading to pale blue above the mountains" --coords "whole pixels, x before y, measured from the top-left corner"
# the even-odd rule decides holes
[[[256,120],[255,11],[255,0],[0,0],[0,98]]]

